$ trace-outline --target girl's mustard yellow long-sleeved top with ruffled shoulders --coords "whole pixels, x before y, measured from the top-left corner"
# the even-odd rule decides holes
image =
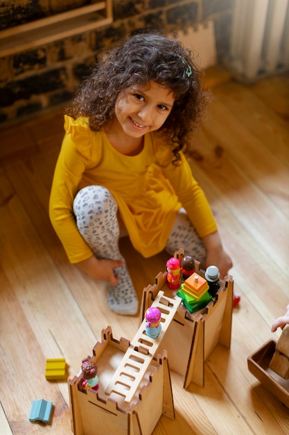
[[[89,185],[112,192],[132,245],[145,257],[164,249],[181,206],[201,237],[216,231],[211,208],[186,158],[181,153],[181,164],[174,166],[172,148],[157,134],[145,136],[137,156],[125,156],[112,147],[103,129],[91,131],[83,118],[66,115],[64,129],[49,214],[71,263],[93,254],[73,215],[73,199]]]

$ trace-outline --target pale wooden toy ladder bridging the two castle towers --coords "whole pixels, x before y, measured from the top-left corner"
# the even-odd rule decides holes
[[[180,297],[171,299],[164,297],[164,292],[159,291],[152,304],[161,311],[161,332],[159,336],[150,338],[146,335],[146,320],[144,319],[130,347],[125,352],[119,367],[114,372],[105,394],[119,394],[124,397],[125,402],[132,400],[181,302]]]

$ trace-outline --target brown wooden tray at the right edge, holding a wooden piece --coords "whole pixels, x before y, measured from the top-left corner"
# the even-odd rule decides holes
[[[289,408],[289,380],[279,376],[274,370],[270,369],[270,362],[276,350],[276,341],[268,340],[256,352],[247,358],[249,371],[275,395],[281,402]]]

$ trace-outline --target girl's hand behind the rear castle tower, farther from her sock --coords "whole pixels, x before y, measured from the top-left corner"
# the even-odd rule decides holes
[[[223,279],[228,274],[233,263],[230,256],[222,247],[218,231],[205,236],[203,242],[207,249],[205,268],[211,265],[217,266],[220,272],[220,278]]]

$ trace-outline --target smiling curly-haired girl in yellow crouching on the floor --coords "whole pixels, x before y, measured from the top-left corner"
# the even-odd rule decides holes
[[[67,109],[51,222],[69,261],[108,281],[116,313],[138,310],[120,231],[144,257],[184,247],[221,276],[231,268],[182,152],[205,102],[190,52],[177,40],[141,33],[94,65]]]

